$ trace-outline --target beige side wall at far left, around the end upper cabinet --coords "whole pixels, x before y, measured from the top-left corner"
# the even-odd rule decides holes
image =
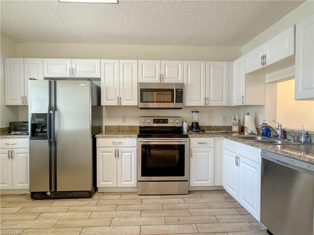
[[[19,120],[19,107],[18,106],[5,106],[5,89],[4,89],[4,58],[17,57],[17,42],[8,38],[6,35],[0,35],[0,54],[1,54],[1,67],[0,67],[0,127],[8,127],[9,122]]]

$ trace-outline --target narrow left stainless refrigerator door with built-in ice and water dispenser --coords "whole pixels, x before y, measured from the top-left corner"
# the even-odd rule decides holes
[[[35,131],[36,127],[36,123],[31,122],[31,114],[45,113],[47,115],[49,113],[51,84],[49,80],[29,81],[30,192],[50,191],[52,185],[50,138],[34,139],[31,137],[31,133]],[[47,117],[47,121],[49,122],[49,117]],[[49,125],[47,127],[49,128]]]

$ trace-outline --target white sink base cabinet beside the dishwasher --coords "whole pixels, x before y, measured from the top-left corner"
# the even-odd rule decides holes
[[[238,150],[236,150],[237,146],[239,146]],[[242,147],[244,147],[244,151],[242,151]],[[241,152],[244,156],[238,154],[238,152]],[[260,149],[225,139],[223,156],[224,189],[257,221],[260,220],[260,160]]]

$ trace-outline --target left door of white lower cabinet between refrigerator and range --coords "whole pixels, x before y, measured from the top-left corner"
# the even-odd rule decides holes
[[[116,148],[97,148],[97,187],[116,186]]]

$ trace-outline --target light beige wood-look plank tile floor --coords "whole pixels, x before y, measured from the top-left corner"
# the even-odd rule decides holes
[[[0,202],[1,231],[25,235],[268,235],[224,190],[162,196],[97,192],[90,199],[50,201],[1,195]]]

